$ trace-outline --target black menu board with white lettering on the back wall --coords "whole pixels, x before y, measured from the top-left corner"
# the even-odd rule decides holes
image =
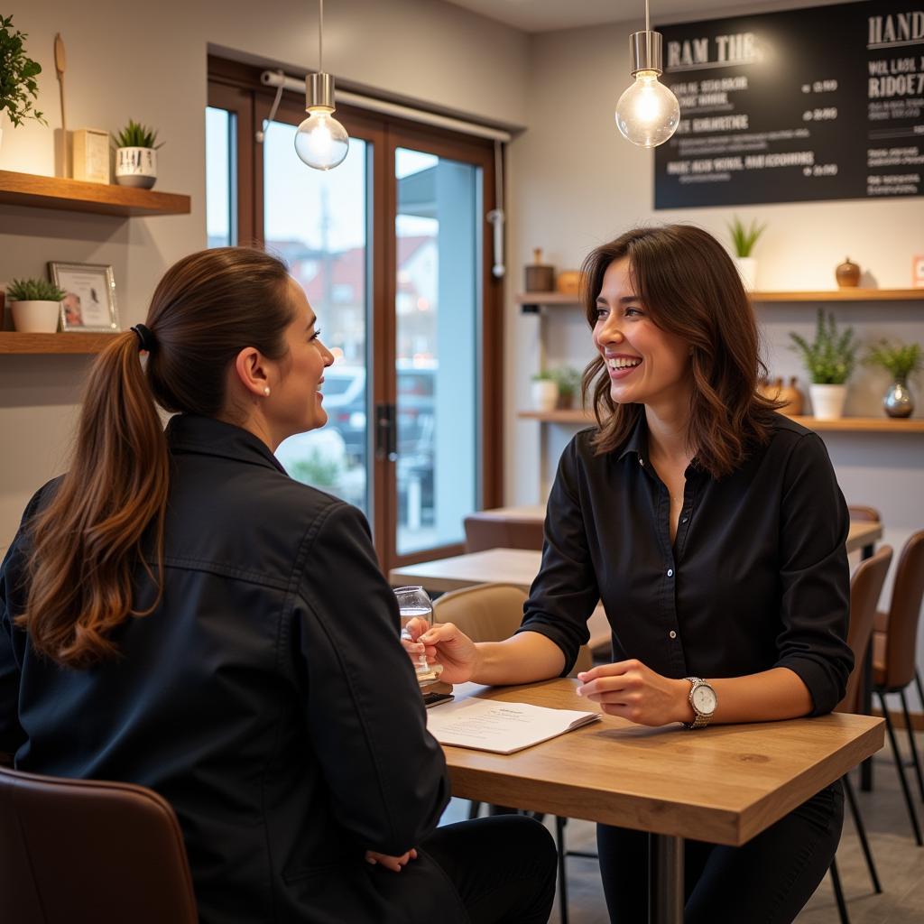
[[[664,26],[654,205],[924,194],[924,0]]]

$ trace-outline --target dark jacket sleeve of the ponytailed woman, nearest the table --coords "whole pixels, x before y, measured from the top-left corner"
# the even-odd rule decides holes
[[[365,517],[346,504],[321,516],[290,623],[309,734],[337,820],[364,849],[397,856],[432,833],[449,801],[443,750]]]

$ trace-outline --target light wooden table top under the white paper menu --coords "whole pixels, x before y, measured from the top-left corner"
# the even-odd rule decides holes
[[[455,693],[597,711],[575,687],[558,678],[462,684]],[[883,727],[881,719],[833,713],[687,731],[604,715],[516,754],[444,752],[454,796],[739,846],[879,750]]]

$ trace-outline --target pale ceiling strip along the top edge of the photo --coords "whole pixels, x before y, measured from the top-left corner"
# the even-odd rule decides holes
[[[445,0],[524,32],[576,29],[645,18],[645,0]],[[649,0],[652,23],[696,21],[844,0]]]

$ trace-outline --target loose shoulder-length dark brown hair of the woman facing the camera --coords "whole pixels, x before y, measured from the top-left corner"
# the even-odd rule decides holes
[[[737,468],[750,444],[770,439],[772,411],[781,405],[757,393],[760,361],[757,322],[735,264],[710,234],[692,225],[627,231],[593,250],[581,268],[581,301],[591,328],[603,274],[629,261],[634,291],[651,321],[692,347],[693,389],[689,446],[699,466],[721,478]],[[619,405],[610,396],[602,356],[584,370],[585,405],[592,392],[598,453],[625,443],[643,407]]]

